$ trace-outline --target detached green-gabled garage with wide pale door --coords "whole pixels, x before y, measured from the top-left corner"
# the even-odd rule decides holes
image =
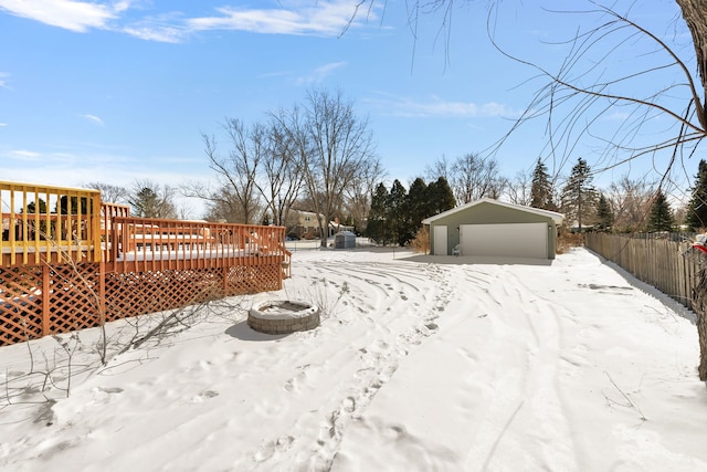
[[[422,223],[430,224],[435,255],[555,259],[563,220],[555,211],[482,198]]]

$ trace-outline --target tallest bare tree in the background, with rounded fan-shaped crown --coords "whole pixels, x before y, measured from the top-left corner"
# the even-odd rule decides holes
[[[368,120],[356,116],[341,92],[313,90],[306,106],[289,113],[286,126],[297,144],[304,186],[326,247],[329,221],[345,190],[377,162]]]

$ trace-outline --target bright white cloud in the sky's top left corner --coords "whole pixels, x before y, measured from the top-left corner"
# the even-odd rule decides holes
[[[104,28],[129,3],[106,4],[75,0],[0,0],[0,10],[66,30]]]

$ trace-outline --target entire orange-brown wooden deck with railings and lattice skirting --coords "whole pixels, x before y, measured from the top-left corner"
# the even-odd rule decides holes
[[[94,190],[0,181],[0,346],[289,276],[285,228],[133,218]]]

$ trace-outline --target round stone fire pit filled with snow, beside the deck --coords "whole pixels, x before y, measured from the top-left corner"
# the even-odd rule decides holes
[[[289,334],[319,326],[319,308],[307,302],[261,302],[247,313],[247,325],[260,333]]]

